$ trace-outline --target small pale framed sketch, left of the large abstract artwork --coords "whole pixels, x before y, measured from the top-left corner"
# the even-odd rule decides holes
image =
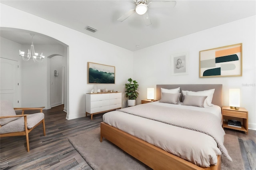
[[[171,75],[188,75],[188,54],[171,55]]]

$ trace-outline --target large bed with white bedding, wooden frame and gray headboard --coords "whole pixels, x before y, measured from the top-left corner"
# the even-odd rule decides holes
[[[169,120],[168,117],[174,116],[169,114],[169,106],[173,112],[179,112],[179,108],[175,109],[176,107],[186,106],[181,105],[182,103],[173,105],[159,102],[160,99],[164,99],[162,95],[165,94],[161,93],[161,88],[176,89],[178,87],[180,88],[180,92],[198,92],[215,89],[211,101],[213,104],[212,107],[199,108],[188,106],[188,108],[182,108],[182,114],[183,111],[189,111],[193,114],[199,114],[197,117],[201,117],[200,114],[204,115],[208,111],[214,114],[216,113],[216,115],[207,115],[210,116],[210,122],[214,122],[212,126],[215,127],[211,129],[216,129],[216,132],[213,133],[220,133],[217,137],[209,136],[208,131],[205,134],[201,133],[200,129],[191,130],[182,127],[183,125],[174,126],[172,122],[165,122],[165,120]],[[183,96],[181,93],[179,100],[185,102],[184,97],[186,96]],[[221,127],[222,85],[156,85],[156,99],[158,100],[157,102],[137,105],[104,114],[103,122],[101,123],[100,140],[102,141],[103,137],[106,138],[152,169],[220,170],[220,155],[224,152],[224,155],[228,156],[225,150],[226,148],[223,148],[225,133]],[[146,112],[146,117],[143,114],[134,115],[133,112],[138,112],[138,114],[144,114]],[[189,114],[186,115],[187,113],[184,113],[185,115],[182,114],[181,112],[179,113],[178,119],[185,120],[185,117],[189,117]],[[155,119],[160,120],[156,121]],[[188,119],[192,120],[193,117]],[[193,123],[193,125],[205,124],[200,123],[200,119],[198,119],[198,123]],[[208,155],[210,155],[209,158]]]

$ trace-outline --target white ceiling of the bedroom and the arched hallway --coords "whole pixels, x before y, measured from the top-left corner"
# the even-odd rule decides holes
[[[156,0],[148,0],[154,2]],[[174,8],[148,9],[152,25],[133,14],[117,21],[134,9],[133,0],[1,0],[2,4],[72,28],[105,42],[136,51],[228,22],[256,15],[255,0],[177,0]],[[95,33],[85,30],[95,28]],[[31,43],[28,33],[1,30],[1,36],[18,43]],[[54,44],[36,35],[34,43]],[[139,47],[136,47],[139,45]]]

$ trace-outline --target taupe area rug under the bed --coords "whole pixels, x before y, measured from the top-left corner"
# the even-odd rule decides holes
[[[108,140],[100,142],[100,128],[80,132],[68,138],[74,148],[94,170],[151,170],[139,160],[133,158]],[[243,160],[238,138],[226,134],[224,146],[227,148],[233,162],[222,156],[222,170],[243,170]]]

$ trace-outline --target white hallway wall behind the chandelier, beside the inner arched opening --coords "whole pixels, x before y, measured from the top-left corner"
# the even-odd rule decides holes
[[[47,86],[50,85],[47,77],[47,61],[50,60],[48,56],[52,54],[64,55],[63,45],[36,45],[34,44],[35,52],[42,53],[45,56],[43,62],[34,62],[32,59],[28,61],[21,61],[21,105],[22,107],[45,107],[50,109],[50,91]],[[30,44],[22,45],[21,51],[30,49]],[[18,54],[18,51],[17,51]],[[18,57],[20,57],[18,55]]]

